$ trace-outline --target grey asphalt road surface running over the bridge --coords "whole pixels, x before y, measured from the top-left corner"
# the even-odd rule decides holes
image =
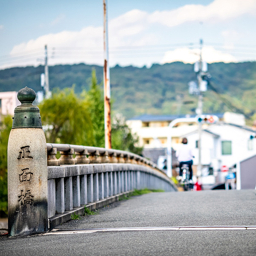
[[[243,230],[104,231],[0,237],[0,255],[256,255],[256,191],[150,193],[56,227],[241,226]],[[54,231],[55,232],[55,231]],[[54,233],[52,232],[52,233]],[[82,231],[81,231],[82,232]]]

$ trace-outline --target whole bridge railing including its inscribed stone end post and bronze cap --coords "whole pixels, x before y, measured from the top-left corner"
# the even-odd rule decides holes
[[[32,235],[133,189],[176,190],[157,165],[126,151],[46,143],[35,91],[17,93],[8,141],[8,230]],[[58,156],[56,157],[58,153]]]

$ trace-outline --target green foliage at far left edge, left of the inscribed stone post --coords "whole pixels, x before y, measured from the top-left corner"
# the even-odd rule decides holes
[[[12,129],[12,117],[5,116],[0,129],[0,215],[7,214],[7,145]]]

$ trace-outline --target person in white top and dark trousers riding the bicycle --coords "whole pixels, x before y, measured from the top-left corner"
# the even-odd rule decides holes
[[[192,158],[194,157],[194,155],[192,152],[192,148],[190,148],[188,145],[187,138],[182,139],[182,145],[176,151],[176,157],[180,163],[180,177],[178,177],[178,178],[181,179],[181,176],[182,176],[181,167],[184,164],[186,164],[189,166],[189,181],[190,181],[190,183],[192,183],[192,175],[193,175],[193,171],[192,171],[193,160],[192,160]]]

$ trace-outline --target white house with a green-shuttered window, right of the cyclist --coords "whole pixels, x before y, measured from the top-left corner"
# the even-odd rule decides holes
[[[203,175],[207,176],[209,167],[216,173],[222,166],[232,168],[236,163],[256,154],[256,131],[246,126],[219,122],[210,125],[202,131],[201,159]],[[198,165],[198,132],[185,135],[189,144],[194,147],[195,166]],[[220,182],[224,181],[224,174],[218,175]]]

